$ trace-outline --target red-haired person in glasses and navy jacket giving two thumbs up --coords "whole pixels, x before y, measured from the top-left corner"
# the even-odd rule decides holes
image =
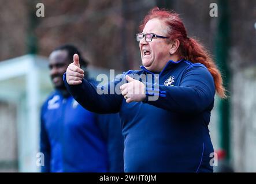
[[[213,59],[187,36],[178,14],[158,7],[136,40],[141,70],[125,72],[128,83],[116,78],[103,86],[120,90],[97,93],[101,88],[83,79],[77,55],[64,75],[67,89],[88,110],[120,112],[125,172],[213,172],[208,124],[215,91],[225,98]]]

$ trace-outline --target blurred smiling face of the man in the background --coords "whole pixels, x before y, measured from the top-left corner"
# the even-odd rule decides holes
[[[67,51],[58,50],[51,52],[49,56],[49,68],[51,81],[55,89],[65,89],[62,78],[70,63],[71,61],[68,60]]]

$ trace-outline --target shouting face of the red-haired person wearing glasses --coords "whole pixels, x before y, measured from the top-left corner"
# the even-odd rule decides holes
[[[147,22],[142,33],[166,36],[166,29],[164,22],[153,18]],[[142,64],[147,70],[162,71],[165,64],[170,60],[170,46],[166,39],[153,38],[152,41],[147,42],[145,38],[143,38],[140,40],[139,47]]]

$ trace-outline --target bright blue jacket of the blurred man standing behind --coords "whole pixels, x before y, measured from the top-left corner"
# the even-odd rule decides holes
[[[54,91],[41,111],[42,172],[123,172],[118,114],[95,114]]]

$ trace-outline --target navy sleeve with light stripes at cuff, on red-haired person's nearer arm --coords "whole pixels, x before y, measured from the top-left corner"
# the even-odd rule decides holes
[[[185,70],[180,86],[147,84],[144,103],[179,113],[200,113],[214,101],[213,77],[202,64]],[[155,95],[157,100],[150,100]]]

